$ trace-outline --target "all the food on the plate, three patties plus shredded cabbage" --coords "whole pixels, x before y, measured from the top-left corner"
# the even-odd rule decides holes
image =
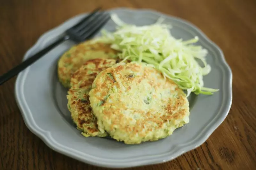
[[[191,92],[218,91],[204,87],[208,51],[195,44],[197,36],[174,38],[163,18],[146,26],[111,18],[115,32],[102,31],[59,60],[71,117],[85,137],[109,135],[125,144],[168,137],[189,122]]]

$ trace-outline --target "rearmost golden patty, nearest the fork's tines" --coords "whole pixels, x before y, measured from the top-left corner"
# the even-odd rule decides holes
[[[95,58],[115,58],[117,51],[109,44],[93,40],[82,42],[65,52],[58,62],[58,77],[62,85],[70,88],[70,78],[86,61]]]

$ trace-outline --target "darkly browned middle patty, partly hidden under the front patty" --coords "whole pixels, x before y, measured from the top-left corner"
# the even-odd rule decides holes
[[[71,78],[71,88],[68,90],[68,109],[71,117],[76,123],[77,129],[82,131],[85,137],[105,137],[105,131],[100,132],[97,118],[93,115],[89,101],[89,91],[93,80],[100,71],[116,64],[115,59],[93,59],[87,61]]]

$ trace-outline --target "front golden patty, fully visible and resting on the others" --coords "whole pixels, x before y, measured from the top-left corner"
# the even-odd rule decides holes
[[[185,93],[145,63],[119,63],[103,70],[89,96],[100,131],[126,144],[167,137],[189,122]]]

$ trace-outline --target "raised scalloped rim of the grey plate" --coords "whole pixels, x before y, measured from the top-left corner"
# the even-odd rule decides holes
[[[68,150],[70,150],[70,148],[65,148],[65,146],[62,146],[61,144],[56,143],[56,141],[51,137],[51,133],[49,131],[44,131],[43,129],[40,129],[40,127],[38,127],[36,124],[34,124],[33,121],[32,122],[29,121],[29,119],[31,119],[31,117],[28,117],[28,115],[25,114],[25,113],[29,112],[29,108],[28,108],[28,106],[26,106],[26,103],[25,104],[22,103],[22,102],[24,102],[24,101],[21,100],[22,92],[20,92],[20,90],[19,90],[20,88],[22,88],[22,85],[24,83],[23,82],[24,79],[22,79],[22,78],[24,78],[25,75],[28,73],[29,67],[26,70],[22,71],[16,79],[15,99],[18,103],[18,107],[21,110],[23,120],[24,120],[26,126],[28,127],[28,129],[31,132],[33,132],[36,136],[40,137],[48,147],[52,148],[52,150],[60,152],[60,153],[66,155],[68,157],[72,157],[74,159],[77,159],[77,160],[80,160],[82,162],[89,163],[89,164],[92,164],[92,165],[96,165],[96,166],[115,167],[115,168],[151,165],[151,164],[156,164],[156,163],[162,163],[162,162],[165,162],[165,161],[170,161],[170,160],[175,159],[176,157],[182,155],[183,153],[191,151],[191,150],[195,149],[196,147],[200,146],[201,144],[203,144],[208,139],[208,137],[213,133],[213,131],[215,129],[217,129],[220,126],[220,124],[225,120],[225,118],[228,115],[228,112],[230,110],[231,104],[232,104],[232,71],[231,71],[228,63],[225,60],[225,57],[223,55],[222,50],[214,42],[212,42],[199,28],[197,28],[192,23],[190,23],[190,22],[188,22],[184,19],[181,19],[181,18],[178,18],[178,17],[173,17],[173,16],[170,16],[170,15],[167,15],[167,14],[155,11],[155,10],[151,10],[151,9],[137,10],[137,9],[129,9],[129,8],[113,8],[113,9],[109,9],[108,11],[116,11],[116,10],[133,11],[133,12],[149,12],[149,13],[153,13],[153,14],[158,15],[158,16],[161,15],[161,16],[164,16],[166,18],[175,19],[176,21],[184,23],[188,27],[191,27],[194,30],[196,30],[197,33],[200,34],[204,38],[204,40],[211,46],[213,51],[219,53],[219,55],[220,55],[219,63],[221,63],[221,66],[223,68],[227,69],[228,75],[229,75],[229,78],[228,78],[228,82],[229,82],[228,90],[229,91],[226,94],[229,98],[229,102],[228,102],[229,104],[228,104],[228,106],[224,106],[224,108],[222,109],[222,110],[225,110],[225,114],[222,114],[220,116],[220,118],[219,118],[220,120],[217,120],[215,123],[211,122],[211,123],[213,123],[213,125],[211,127],[209,127],[208,130],[205,130],[205,133],[200,133],[200,135],[198,135],[193,140],[194,142],[192,142],[192,144],[178,149],[176,152],[174,152],[171,155],[167,155],[167,156],[166,156],[166,154],[162,155],[162,156],[158,155],[156,158],[148,158],[148,159],[146,157],[145,158],[142,157],[140,159],[136,158],[137,160],[133,160],[133,162],[131,162],[131,163],[127,162],[127,160],[126,161],[121,161],[121,162],[120,161],[115,162],[115,161],[110,160],[110,159],[105,159],[105,161],[103,161],[104,159],[101,159],[101,158],[100,158],[101,160],[97,161],[94,157],[92,157],[90,155],[87,155],[87,154],[83,155],[83,157],[87,156],[87,159],[85,157],[83,159],[81,156],[78,156],[78,155],[76,155],[72,152],[68,152]],[[33,53],[35,50],[38,50],[38,48],[40,48],[40,46],[42,46],[42,44],[44,43],[44,41],[47,38],[49,38],[49,37],[54,37],[55,38],[57,36],[60,36],[60,34],[61,34],[61,33],[59,33],[59,35],[58,35],[58,34],[55,34],[54,32],[56,32],[57,30],[61,30],[61,29],[62,29],[62,31],[64,31],[64,27],[66,27],[66,25],[68,25],[68,23],[70,21],[72,21],[75,18],[82,17],[84,15],[86,15],[86,13],[76,15],[76,16],[66,20],[64,23],[60,24],[59,26],[47,31],[46,33],[44,33],[42,36],[39,37],[39,39],[36,41],[36,43],[26,52],[23,59],[28,58],[28,56],[31,53]],[[55,35],[52,35],[53,33]],[[20,86],[20,83],[21,83],[21,86]],[[219,111],[220,111],[220,109],[219,109]],[[197,138],[200,138],[200,139],[196,140]],[[152,156],[150,156],[150,157],[152,157]],[[93,160],[93,159],[95,159],[95,160]]]

